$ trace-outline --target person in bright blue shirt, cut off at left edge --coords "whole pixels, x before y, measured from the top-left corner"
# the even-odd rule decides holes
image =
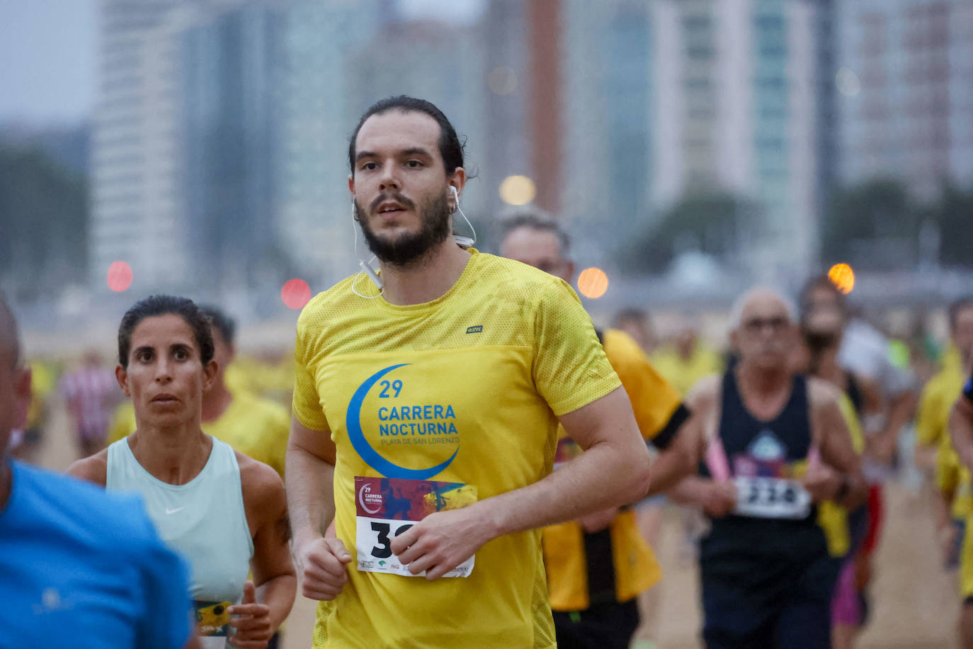
[[[141,500],[7,457],[29,401],[0,294],[0,647],[197,649],[188,567]]]

